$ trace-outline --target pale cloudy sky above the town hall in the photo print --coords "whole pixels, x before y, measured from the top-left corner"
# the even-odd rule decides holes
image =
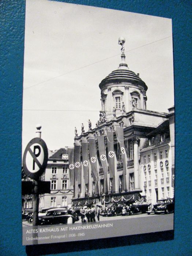
[[[174,105],[172,20],[150,15],[26,0],[22,151],[41,124],[50,150],[72,147],[74,129],[99,119],[99,83],[121,62],[148,86],[147,109]]]

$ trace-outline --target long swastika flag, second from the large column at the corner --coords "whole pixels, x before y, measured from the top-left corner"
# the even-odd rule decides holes
[[[107,135],[107,147],[108,147],[109,173],[110,173],[110,178],[114,179],[114,177],[115,177],[115,166],[114,166],[115,153],[114,153],[113,132],[106,131],[106,135]]]

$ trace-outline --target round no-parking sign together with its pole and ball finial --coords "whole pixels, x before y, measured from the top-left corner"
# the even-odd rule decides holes
[[[37,125],[37,136],[26,146],[23,154],[23,171],[34,180],[33,196],[33,226],[38,225],[39,210],[39,177],[45,171],[48,161],[48,149],[41,139],[41,125]]]

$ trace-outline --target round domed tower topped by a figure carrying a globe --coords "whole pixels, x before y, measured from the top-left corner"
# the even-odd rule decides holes
[[[121,45],[121,63],[118,69],[112,71],[99,84],[101,89],[102,111],[105,111],[107,121],[114,116],[135,109],[146,109],[146,84],[140,79],[139,74],[130,71],[125,63],[124,54],[125,39],[120,37],[118,44]]]

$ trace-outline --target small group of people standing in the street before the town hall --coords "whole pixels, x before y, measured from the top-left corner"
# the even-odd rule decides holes
[[[80,217],[83,222],[95,222],[95,216],[97,217],[97,221],[99,222],[100,216],[100,208],[99,206],[88,206],[86,209],[83,207],[80,208]]]

